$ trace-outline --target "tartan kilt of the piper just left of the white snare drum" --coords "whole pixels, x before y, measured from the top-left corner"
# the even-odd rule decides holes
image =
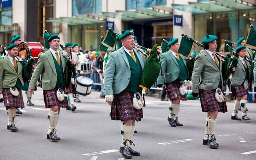
[[[61,88],[63,90],[63,88]],[[56,95],[58,88],[54,88],[53,90],[44,90],[44,104],[45,108],[51,108],[50,106],[60,106],[61,108],[68,107],[68,98],[64,98],[63,101],[59,101]]]

